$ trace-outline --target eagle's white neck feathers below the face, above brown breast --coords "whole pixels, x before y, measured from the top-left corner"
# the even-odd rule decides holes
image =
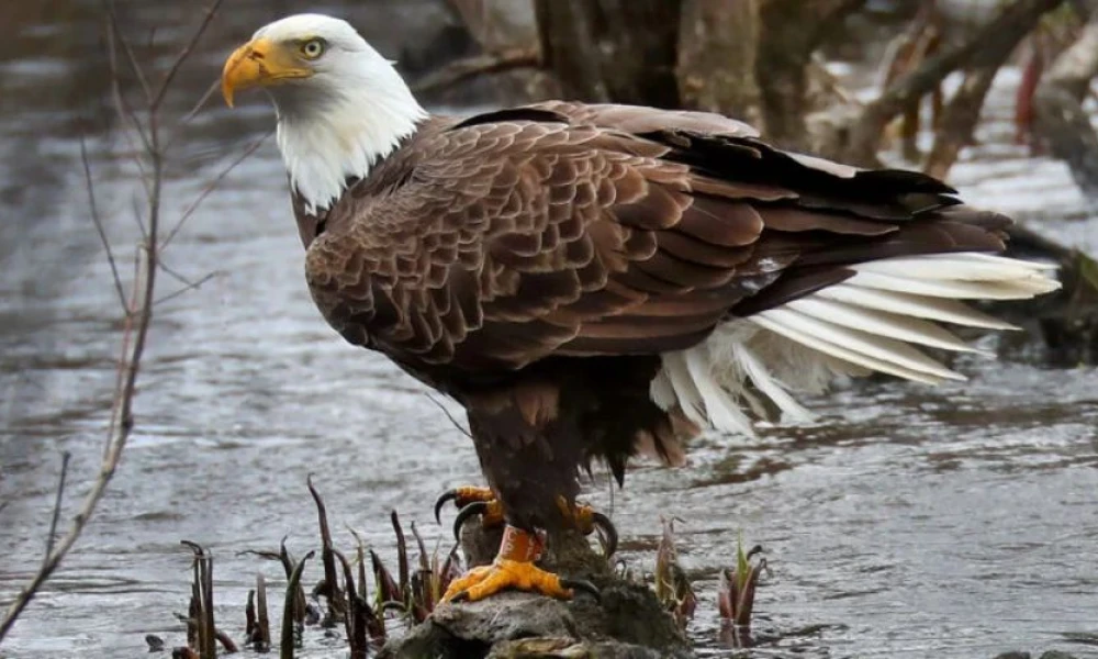
[[[348,179],[366,178],[427,118],[388,62],[323,91],[277,94],[274,103],[279,150],[310,214],[330,209]]]

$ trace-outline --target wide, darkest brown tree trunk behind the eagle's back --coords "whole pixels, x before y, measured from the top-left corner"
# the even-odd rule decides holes
[[[674,0],[536,0],[542,58],[567,99],[676,108]]]

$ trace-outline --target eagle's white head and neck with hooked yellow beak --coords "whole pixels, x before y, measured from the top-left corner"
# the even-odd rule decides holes
[[[346,21],[298,14],[261,27],[225,63],[222,93],[264,87],[290,182],[314,213],[365,177],[427,113],[391,62]]]

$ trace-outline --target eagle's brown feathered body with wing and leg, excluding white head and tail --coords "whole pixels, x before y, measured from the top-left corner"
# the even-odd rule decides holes
[[[652,402],[662,353],[885,257],[998,252],[1008,221],[911,172],[785,154],[739,122],[545,103],[433,118],[330,211],[295,200],[317,306],[468,410],[508,521],[553,526],[696,432]]]

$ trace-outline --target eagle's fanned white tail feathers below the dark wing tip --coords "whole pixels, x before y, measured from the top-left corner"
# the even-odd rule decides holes
[[[751,434],[759,394],[786,416],[811,413],[791,392],[817,392],[840,375],[881,371],[937,384],[964,377],[915,345],[982,353],[934,322],[1011,330],[960,300],[1019,300],[1054,291],[1054,266],[987,254],[911,256],[860,264],[850,279],[719,325],[705,343],[663,354],[652,400],[721,431]],[[915,344],[915,345],[912,345]]]

